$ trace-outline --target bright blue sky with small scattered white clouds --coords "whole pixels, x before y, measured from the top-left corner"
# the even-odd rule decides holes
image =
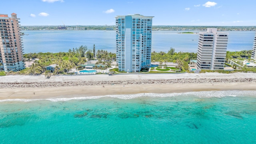
[[[115,16],[154,16],[153,25],[255,26],[256,0],[3,0],[22,26],[114,25]],[[9,5],[10,8],[4,5]]]

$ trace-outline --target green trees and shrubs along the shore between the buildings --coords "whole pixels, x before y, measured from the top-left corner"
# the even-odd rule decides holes
[[[230,52],[227,51],[226,54],[226,66],[230,66],[228,64],[229,59],[236,60],[249,60],[252,50],[242,50],[240,52]],[[95,50],[94,48],[88,49],[87,46],[80,46],[78,48],[69,49],[68,52],[58,52],[58,53],[29,53],[24,54],[24,58],[27,64],[27,68],[18,72],[0,72],[0,76],[5,75],[15,75],[15,74],[23,74],[23,75],[55,75],[55,74],[74,74],[72,69],[81,69],[82,64],[90,61],[97,60],[95,69],[105,70],[112,69],[112,72],[118,72],[116,64],[114,63],[116,54],[112,52],[108,52],[106,50]],[[170,48],[168,52],[152,52],[151,61],[158,62],[160,68],[166,65],[168,62],[172,62],[176,64],[174,69],[179,72],[190,72],[188,68],[188,64],[190,64],[190,60],[196,60],[196,53],[194,52],[175,52],[174,48]],[[52,73],[46,70],[46,66],[51,64],[57,64],[56,70]],[[225,71],[225,70],[202,70],[201,73],[204,72],[220,72],[220,73],[234,73],[234,72],[256,72],[255,68],[250,67],[241,67],[234,66],[236,69],[234,71]],[[168,67],[167,67],[168,68]],[[153,69],[153,68],[152,68]],[[142,72],[142,71],[141,71]],[[144,71],[143,71],[144,72]],[[166,73],[167,71],[151,71],[147,73]],[[145,73],[145,72],[144,72]],[[98,73],[100,74],[100,72]]]

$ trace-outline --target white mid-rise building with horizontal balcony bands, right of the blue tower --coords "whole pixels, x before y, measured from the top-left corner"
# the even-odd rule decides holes
[[[217,32],[217,28],[199,32],[197,67],[201,70],[223,70],[227,45],[227,32]]]

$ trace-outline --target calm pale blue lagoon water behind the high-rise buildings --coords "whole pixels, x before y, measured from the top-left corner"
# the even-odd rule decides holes
[[[116,50],[116,31],[103,30],[26,30],[22,31],[25,53],[68,52],[68,49],[85,45],[96,50]],[[152,52],[168,52],[170,47],[176,52],[197,52],[198,34],[178,34],[182,31],[152,31]],[[199,33],[199,31],[191,31]],[[229,51],[252,50],[254,31],[228,31]]]

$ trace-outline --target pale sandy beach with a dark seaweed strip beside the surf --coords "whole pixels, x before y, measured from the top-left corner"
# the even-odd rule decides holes
[[[138,93],[256,90],[254,73],[2,76],[0,100],[72,98]]]

